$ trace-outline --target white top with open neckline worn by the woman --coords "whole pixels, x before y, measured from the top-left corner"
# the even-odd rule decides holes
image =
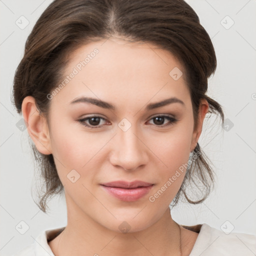
[[[256,235],[254,234],[235,232],[226,234],[206,223],[194,226],[181,226],[199,233],[189,256],[256,255]],[[12,256],[54,256],[47,240],[53,239],[62,228],[42,231],[33,243]]]

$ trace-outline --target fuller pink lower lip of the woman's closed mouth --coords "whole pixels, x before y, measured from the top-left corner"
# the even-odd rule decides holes
[[[121,188],[101,185],[108,193],[117,197],[122,201],[136,201],[149,192],[153,185],[136,187],[136,188]]]

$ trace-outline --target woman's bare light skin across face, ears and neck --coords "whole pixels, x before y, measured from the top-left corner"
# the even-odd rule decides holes
[[[22,103],[27,130],[36,148],[52,153],[64,186],[67,225],[48,242],[54,255],[180,255],[179,228],[169,203],[183,181],[185,170],[154,202],[149,201],[182,164],[200,136],[208,103],[201,100],[198,126],[193,130],[192,103],[184,75],[174,80],[169,72],[180,63],[166,50],[150,43],[124,38],[82,45],[72,53],[64,74],[68,75],[84,56],[99,52],[50,100],[49,124],[40,116],[34,98]],[[60,81],[61,82],[61,81]],[[70,104],[78,96],[107,101],[116,110],[89,103]],[[145,110],[148,103],[175,96],[184,102]],[[78,118],[97,115],[98,128]],[[177,122],[160,125],[152,117],[166,114]],[[118,123],[131,124],[123,131]],[[93,124],[87,119],[86,124]],[[100,127],[101,125],[101,127]],[[80,177],[67,178],[75,169]],[[148,194],[127,202],[113,197],[99,185],[114,180],[153,183]],[[118,226],[126,221],[130,229]],[[182,255],[189,255],[198,233],[181,227]],[[150,253],[149,253],[150,252]]]

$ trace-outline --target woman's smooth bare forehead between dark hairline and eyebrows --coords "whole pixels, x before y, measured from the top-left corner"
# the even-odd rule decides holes
[[[183,71],[177,59],[159,46],[110,37],[82,45],[70,54],[60,82],[75,74],[62,83],[64,88],[56,96],[65,102],[81,95],[111,97],[126,104],[131,99],[142,104],[167,96],[185,101],[189,92]],[[173,72],[180,77],[173,79]]]

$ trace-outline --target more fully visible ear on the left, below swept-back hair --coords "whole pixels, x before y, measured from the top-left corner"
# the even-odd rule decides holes
[[[48,124],[36,105],[32,96],[26,96],[22,101],[21,111],[27,125],[27,131],[37,150],[42,154],[51,154],[51,144]]]

